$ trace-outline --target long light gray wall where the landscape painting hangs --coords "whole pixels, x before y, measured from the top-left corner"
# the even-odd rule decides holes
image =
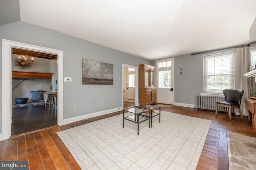
[[[0,39],[1,47],[2,39],[8,39],[64,51],[63,75],[72,77],[72,82],[63,84],[64,119],[122,107],[122,63],[134,66],[150,64],[148,60],[23,21],[0,26]],[[83,85],[82,59],[114,64],[113,85]],[[2,60],[0,66],[2,67]],[[2,80],[2,68],[0,70]],[[2,89],[2,83],[0,88]],[[0,93],[2,95],[2,91]],[[2,104],[2,98],[0,103]],[[73,109],[74,104],[76,109]],[[1,133],[2,105],[0,111]]]

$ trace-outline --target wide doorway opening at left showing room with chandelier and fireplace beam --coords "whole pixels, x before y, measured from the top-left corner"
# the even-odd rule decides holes
[[[57,106],[49,111],[44,101],[44,92],[57,90],[57,57],[12,48],[11,136],[57,125]]]

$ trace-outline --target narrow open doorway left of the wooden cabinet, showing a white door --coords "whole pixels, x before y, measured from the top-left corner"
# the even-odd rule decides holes
[[[138,106],[138,66],[122,64],[122,108]]]

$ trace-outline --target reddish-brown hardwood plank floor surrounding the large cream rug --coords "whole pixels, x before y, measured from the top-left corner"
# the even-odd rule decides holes
[[[198,170],[227,170],[227,141],[226,132],[239,133],[250,137],[256,137],[256,131],[252,128],[252,122],[248,117],[232,115],[229,119],[227,113],[196,110],[188,107],[173,106],[161,107],[162,111],[169,111],[182,115],[212,120],[200,160]],[[85,119],[60,127],[52,127],[41,131],[34,131],[26,135],[12,137],[0,141],[0,160],[28,160],[29,169],[74,169],[80,167],[62,143],[56,132],[72,127],[80,126],[92,121],[122,114],[122,111]]]

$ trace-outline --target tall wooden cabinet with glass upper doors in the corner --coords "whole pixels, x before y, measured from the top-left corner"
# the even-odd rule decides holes
[[[140,64],[140,105],[156,103],[155,66]]]

